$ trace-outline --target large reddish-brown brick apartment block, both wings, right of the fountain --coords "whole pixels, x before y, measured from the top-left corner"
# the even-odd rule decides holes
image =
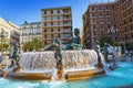
[[[113,41],[133,42],[133,0],[90,4],[83,14],[83,44],[91,48],[106,35]]]

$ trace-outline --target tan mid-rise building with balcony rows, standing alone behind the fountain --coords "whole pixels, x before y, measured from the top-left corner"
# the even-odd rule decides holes
[[[71,7],[42,9],[41,15],[42,40],[45,45],[52,43],[55,37],[62,41],[73,37]]]

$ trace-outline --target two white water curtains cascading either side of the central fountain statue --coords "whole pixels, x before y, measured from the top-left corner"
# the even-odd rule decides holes
[[[62,64],[66,69],[85,69],[98,63],[96,52],[93,50],[62,51]],[[20,59],[23,72],[52,72],[55,66],[54,52],[28,52]]]

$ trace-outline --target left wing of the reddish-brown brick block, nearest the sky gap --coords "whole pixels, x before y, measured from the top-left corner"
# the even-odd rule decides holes
[[[90,4],[88,11],[83,14],[83,45],[91,48],[96,40],[106,35],[113,28],[113,4]]]

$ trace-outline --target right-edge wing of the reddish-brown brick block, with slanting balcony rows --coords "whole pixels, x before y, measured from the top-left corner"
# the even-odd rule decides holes
[[[133,43],[133,0],[117,0],[115,9],[119,10],[117,29],[120,31],[120,41]]]

